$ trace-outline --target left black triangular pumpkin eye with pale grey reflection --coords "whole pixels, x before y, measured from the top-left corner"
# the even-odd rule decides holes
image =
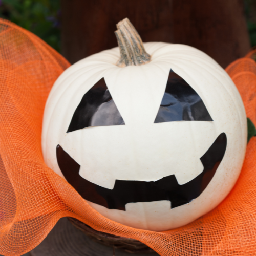
[[[105,79],[100,79],[83,95],[71,119],[67,133],[89,126],[110,126],[125,124]]]

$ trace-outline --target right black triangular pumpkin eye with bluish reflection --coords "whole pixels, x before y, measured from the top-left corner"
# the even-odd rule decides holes
[[[171,69],[154,123],[213,121],[196,91]]]

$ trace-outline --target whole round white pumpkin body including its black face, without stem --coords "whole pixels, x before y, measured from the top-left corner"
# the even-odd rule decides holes
[[[102,52],[65,71],[47,102],[42,148],[48,166],[102,215],[161,231],[228,194],[244,158],[246,117],[231,79],[207,55],[145,47],[152,61],[144,66],[99,65]]]

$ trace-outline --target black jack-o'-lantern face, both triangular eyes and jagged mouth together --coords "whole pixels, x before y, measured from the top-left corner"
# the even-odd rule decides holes
[[[165,93],[154,123],[174,121],[214,121],[200,96],[189,84],[170,70]],[[90,126],[124,125],[124,120],[106,86],[100,79],[82,97],[68,131]],[[174,174],[157,181],[116,180],[113,189],[92,183],[79,175],[80,165],[60,145],[56,154],[59,168],[67,181],[86,200],[109,209],[125,210],[127,203],[169,200],[172,208],[187,204],[200,196],[224,157],[227,137],[221,133],[200,158],[203,172],[180,185]],[[172,166],[169,166],[172,168]]]

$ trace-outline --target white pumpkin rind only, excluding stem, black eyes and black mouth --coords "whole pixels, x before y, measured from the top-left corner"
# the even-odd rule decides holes
[[[131,184],[131,188],[125,185],[124,191],[120,190],[132,198],[124,204],[125,209],[88,203],[103,216],[124,225],[163,231],[194,221],[227,196],[242,168],[247,123],[236,86],[208,55],[193,47],[164,42],[148,42],[144,47],[151,55],[144,65],[118,67],[120,52],[116,47],[82,59],[60,75],[45,108],[42,152],[46,164],[64,179],[56,156],[58,145],[78,164],[80,177],[97,189],[110,191],[117,180]],[[213,121],[192,118],[155,122],[170,70],[195,90]],[[102,78],[122,125],[108,122],[113,114],[105,107],[108,101],[91,126],[67,132],[83,96]],[[106,123],[100,125],[102,116]],[[224,157],[198,197],[178,207],[172,207],[175,202],[166,199],[136,201],[145,192],[143,187],[158,184],[164,177],[175,177],[179,185],[198,177],[204,169],[200,158],[221,134],[227,140]],[[132,181],[137,182],[135,187]],[[97,189],[91,190],[90,186],[83,189],[97,194]]]

